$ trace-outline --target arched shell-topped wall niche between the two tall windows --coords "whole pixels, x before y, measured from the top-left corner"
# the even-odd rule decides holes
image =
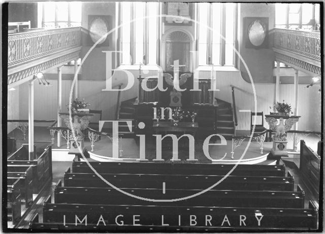
[[[182,28],[168,29],[161,38],[160,64],[164,71],[172,71],[174,60],[179,59],[180,71],[193,71],[194,38]]]

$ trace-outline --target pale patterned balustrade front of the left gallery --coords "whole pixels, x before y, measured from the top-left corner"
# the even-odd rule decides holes
[[[81,28],[56,28],[8,35],[8,69],[81,45]]]

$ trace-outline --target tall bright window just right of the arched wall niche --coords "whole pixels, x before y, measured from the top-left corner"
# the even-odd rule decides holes
[[[199,3],[198,8],[199,65],[233,66],[237,4]]]

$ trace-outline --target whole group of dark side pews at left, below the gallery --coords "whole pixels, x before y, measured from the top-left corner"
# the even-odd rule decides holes
[[[28,160],[28,146],[22,145],[7,160],[7,221],[19,223],[23,211],[33,203],[33,193],[39,193],[52,181],[52,148],[48,146],[35,160]]]

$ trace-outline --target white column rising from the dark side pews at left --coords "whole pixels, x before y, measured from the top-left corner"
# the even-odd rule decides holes
[[[34,79],[29,81],[28,96],[28,158],[34,160]]]

